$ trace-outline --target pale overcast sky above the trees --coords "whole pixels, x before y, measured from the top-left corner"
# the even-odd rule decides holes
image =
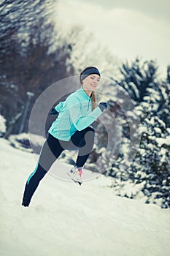
[[[118,58],[154,59],[166,73],[170,64],[170,1],[58,0],[56,18],[66,32],[73,25],[93,32],[96,42]],[[85,35],[86,36],[86,35]]]

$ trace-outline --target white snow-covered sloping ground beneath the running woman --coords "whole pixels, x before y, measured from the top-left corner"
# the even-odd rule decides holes
[[[48,174],[24,208],[34,155],[4,139],[0,151],[2,256],[169,256],[169,209],[115,196],[104,176],[80,187]]]

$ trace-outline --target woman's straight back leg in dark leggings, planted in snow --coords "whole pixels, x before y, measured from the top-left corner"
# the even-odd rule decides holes
[[[42,146],[36,169],[26,181],[22,203],[23,206],[29,205],[31,197],[34,195],[34,192],[39,185],[39,181],[41,181],[47,171],[50,170],[51,165],[53,165],[53,162],[60,156],[62,151],[63,148],[61,147],[59,140],[48,134],[47,140]]]

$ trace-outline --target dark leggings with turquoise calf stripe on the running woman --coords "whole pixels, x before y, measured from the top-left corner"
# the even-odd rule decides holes
[[[34,170],[34,173],[31,173],[26,181],[22,205],[29,205],[31,197],[34,195],[34,192],[39,185],[39,181],[41,181],[47,171],[50,170],[51,165],[53,165],[55,160],[58,159],[63,150],[78,149],[78,156],[75,165],[77,167],[82,167],[85,165],[85,162],[93,149],[93,143],[94,129],[92,127],[87,127],[82,131],[75,132],[69,141],[58,140],[48,133],[47,140],[42,146],[42,151],[40,153],[36,169]]]

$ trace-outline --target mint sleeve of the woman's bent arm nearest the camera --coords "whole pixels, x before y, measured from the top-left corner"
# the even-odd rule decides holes
[[[76,97],[74,100],[74,104],[71,100],[68,100],[67,106],[69,110],[69,116],[72,119],[74,127],[78,131],[81,131],[82,129],[89,127],[90,124],[92,124],[93,121],[95,121],[96,118],[98,118],[98,116],[100,116],[102,113],[101,109],[97,107],[93,111],[91,111],[87,116],[82,116],[82,104],[80,100]]]

